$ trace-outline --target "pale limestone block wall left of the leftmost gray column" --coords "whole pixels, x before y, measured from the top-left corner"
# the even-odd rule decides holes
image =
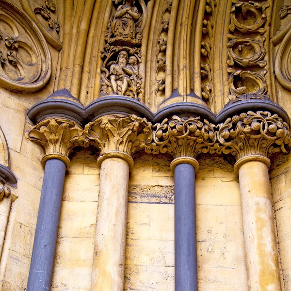
[[[25,290],[43,179],[41,149],[25,138],[29,129],[26,113],[36,102],[53,92],[59,52],[50,47],[52,74],[42,90],[30,94],[0,88],[0,126],[10,150],[10,169],[17,188],[14,197],[0,265],[0,290]]]

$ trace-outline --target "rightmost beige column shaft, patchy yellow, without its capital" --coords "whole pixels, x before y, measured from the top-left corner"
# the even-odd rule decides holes
[[[246,162],[239,178],[249,290],[280,291],[268,167],[264,162]]]

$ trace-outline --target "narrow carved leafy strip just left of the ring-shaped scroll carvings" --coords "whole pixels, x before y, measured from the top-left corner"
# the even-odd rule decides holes
[[[212,62],[213,52],[213,25],[216,15],[216,0],[208,0],[205,6],[205,15],[202,27],[202,41],[201,41],[201,86],[202,98],[208,103],[210,108],[214,108],[213,99],[213,73]]]

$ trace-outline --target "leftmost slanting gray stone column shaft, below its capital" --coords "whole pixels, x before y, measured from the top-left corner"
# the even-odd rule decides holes
[[[50,290],[65,169],[65,163],[61,160],[46,162],[27,291]]]

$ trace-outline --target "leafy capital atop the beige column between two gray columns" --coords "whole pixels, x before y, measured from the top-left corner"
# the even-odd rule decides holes
[[[152,124],[136,115],[108,114],[88,123],[84,135],[100,151],[98,167],[107,158],[118,157],[133,166],[133,154],[152,140]]]

